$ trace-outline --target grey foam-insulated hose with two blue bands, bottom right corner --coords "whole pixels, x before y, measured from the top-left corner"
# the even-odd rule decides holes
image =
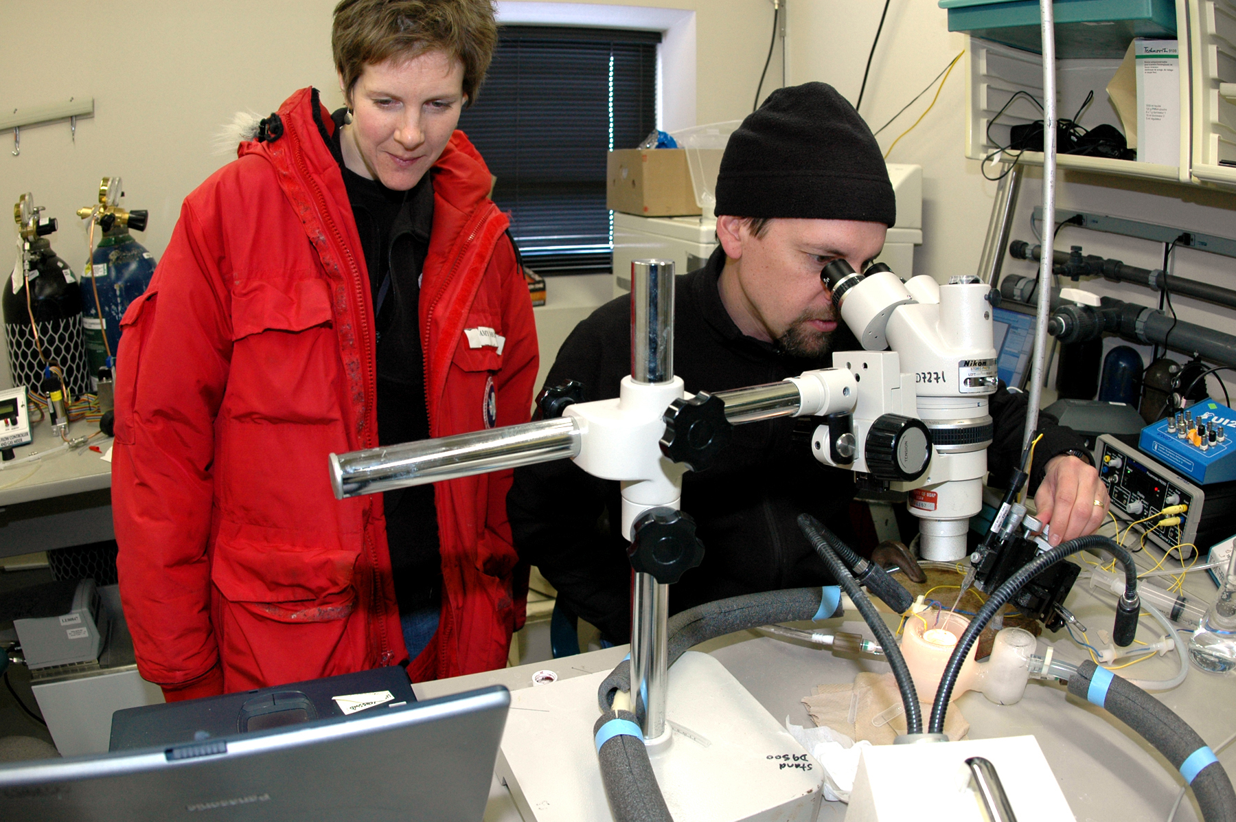
[[[1236,822],[1236,792],[1215,754],[1174,711],[1091,660],[1069,677],[1069,693],[1105,708],[1180,771],[1206,822]]]

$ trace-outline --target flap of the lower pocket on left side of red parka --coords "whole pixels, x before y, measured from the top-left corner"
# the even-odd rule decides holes
[[[248,535],[219,535],[210,578],[232,602],[318,602],[355,598],[357,553],[288,545]]]

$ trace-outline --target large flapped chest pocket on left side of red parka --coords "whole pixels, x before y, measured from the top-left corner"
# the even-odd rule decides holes
[[[339,340],[321,279],[243,286],[232,294],[227,415],[247,422],[339,419]]]

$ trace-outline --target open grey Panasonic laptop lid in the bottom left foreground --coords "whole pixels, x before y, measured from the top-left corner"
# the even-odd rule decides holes
[[[510,693],[492,686],[169,747],[0,765],[6,822],[481,820]]]

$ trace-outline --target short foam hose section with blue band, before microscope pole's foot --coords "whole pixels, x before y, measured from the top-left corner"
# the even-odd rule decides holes
[[[674,822],[630,711],[606,711],[593,726],[606,800],[614,822]]]

